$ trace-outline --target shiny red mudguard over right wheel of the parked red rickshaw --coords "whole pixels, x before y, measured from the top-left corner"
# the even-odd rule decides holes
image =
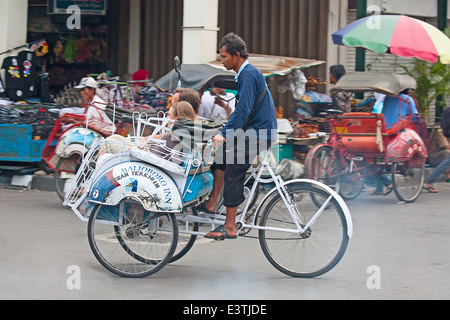
[[[404,128],[389,140],[385,160],[387,162],[409,161],[415,154],[424,158],[425,161],[428,157],[427,148],[416,131]]]

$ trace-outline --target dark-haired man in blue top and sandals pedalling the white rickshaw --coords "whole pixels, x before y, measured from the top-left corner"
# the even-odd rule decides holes
[[[219,50],[224,67],[237,73],[238,102],[230,120],[213,138],[213,145],[216,148],[220,147],[224,161],[218,160],[217,155],[220,153],[216,151],[216,162],[212,166],[213,190],[209,200],[200,207],[200,210],[214,213],[221,190],[224,189],[225,223],[205,235],[206,238],[224,240],[237,238],[236,213],[238,206],[245,200],[246,172],[259,151],[270,147],[276,139],[277,120],[275,105],[265,78],[248,62],[247,45],[242,38],[234,33],[227,34],[222,39]],[[239,135],[236,132],[239,129],[243,129],[246,134]],[[247,132],[255,133],[255,137],[248,136]],[[238,148],[239,138],[245,140],[245,150]],[[233,152],[234,156],[232,163],[229,162],[230,157],[225,156],[225,149],[229,148],[230,144],[230,152]],[[225,160],[228,163],[225,163]]]

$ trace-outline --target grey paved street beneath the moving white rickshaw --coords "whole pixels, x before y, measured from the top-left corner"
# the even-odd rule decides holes
[[[97,262],[86,224],[56,193],[0,189],[0,299],[450,299],[450,184],[436,187],[413,204],[368,191],[348,202],[354,237],[316,279],[280,273],[251,238],[202,238],[151,277],[120,278]],[[72,266],[81,287],[71,290]]]

